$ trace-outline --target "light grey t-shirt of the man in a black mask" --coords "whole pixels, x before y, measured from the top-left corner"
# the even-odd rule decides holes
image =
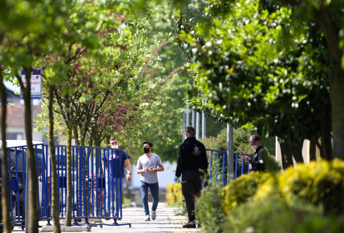
[[[141,155],[138,159],[138,163],[136,165],[137,169],[144,169],[145,167],[154,167],[158,168],[162,165],[161,159],[159,155],[152,154],[149,158],[146,154]],[[141,174],[141,181],[146,182],[148,184],[154,184],[158,182],[158,175],[156,172],[144,172]]]

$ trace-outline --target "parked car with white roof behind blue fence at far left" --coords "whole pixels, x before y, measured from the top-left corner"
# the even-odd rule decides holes
[[[26,140],[6,140],[7,148],[9,150],[11,177],[15,179],[16,190],[13,192],[16,196],[16,204],[20,207],[20,213],[14,212],[14,216],[21,216],[21,220],[25,218],[25,206],[24,206],[24,178],[26,178],[26,162],[27,162],[27,143]],[[36,165],[37,165],[37,202],[39,206],[42,205],[42,153],[43,142],[32,141]],[[0,140],[0,145],[2,141]],[[3,155],[0,151],[0,158]],[[14,210],[15,211],[15,210]]]

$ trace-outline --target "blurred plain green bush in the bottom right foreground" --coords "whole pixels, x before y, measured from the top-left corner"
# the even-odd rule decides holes
[[[290,233],[342,232],[339,216],[323,216],[321,207],[307,202],[286,203],[278,197],[262,202],[245,202],[227,216],[226,232]]]

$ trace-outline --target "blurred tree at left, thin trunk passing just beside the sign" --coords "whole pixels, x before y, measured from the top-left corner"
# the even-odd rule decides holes
[[[2,54],[5,66],[10,67],[12,77],[20,84],[25,103],[25,122],[31,120],[30,74],[35,64],[35,58],[43,57],[53,43],[54,35],[61,33],[65,12],[70,1],[1,1],[0,33],[4,33],[1,47],[6,53]],[[19,75],[24,69],[26,85]],[[32,146],[32,125],[25,124],[27,140],[27,201],[26,201],[26,232],[38,231],[37,189],[35,156]]]

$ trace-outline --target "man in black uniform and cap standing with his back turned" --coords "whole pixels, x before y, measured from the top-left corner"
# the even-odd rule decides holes
[[[185,140],[178,155],[176,177],[182,175],[182,193],[187,209],[188,223],[185,228],[195,228],[195,203],[202,189],[202,176],[207,173],[208,160],[205,146],[195,138],[193,126],[186,126],[183,131]]]

